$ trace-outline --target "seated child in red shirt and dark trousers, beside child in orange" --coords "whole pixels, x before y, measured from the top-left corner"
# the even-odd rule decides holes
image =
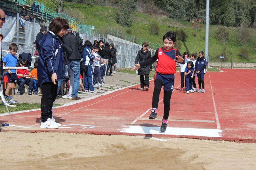
[[[25,59],[22,59],[20,61],[20,67],[26,67],[27,61]],[[17,69],[17,82],[20,84],[18,88],[17,95],[20,95],[20,91],[24,87],[25,83],[28,83],[28,94],[32,94],[33,90],[33,78],[27,78],[30,77],[30,74],[28,72],[28,69]]]

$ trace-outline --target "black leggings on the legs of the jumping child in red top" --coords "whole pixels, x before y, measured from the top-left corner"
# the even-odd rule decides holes
[[[154,88],[153,99],[152,99],[152,108],[157,109],[158,107],[159,95],[163,85],[164,83],[161,79],[155,80],[155,88]],[[165,120],[169,118],[171,97],[172,97],[172,92],[164,90],[164,119]]]

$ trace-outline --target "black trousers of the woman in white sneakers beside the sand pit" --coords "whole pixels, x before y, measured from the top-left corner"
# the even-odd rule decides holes
[[[45,82],[42,84],[42,98],[41,98],[41,117],[42,122],[47,121],[48,118],[52,118],[52,105],[56,99],[58,90],[57,85],[52,82]]]

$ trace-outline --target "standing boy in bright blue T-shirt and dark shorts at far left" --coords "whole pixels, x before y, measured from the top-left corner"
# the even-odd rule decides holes
[[[17,57],[15,56],[18,51],[18,47],[16,44],[12,43],[9,47],[10,53],[4,56],[3,66],[4,67],[16,67]],[[7,82],[7,87],[5,90],[5,94],[12,97],[14,85],[16,84],[17,74],[16,70],[8,70],[4,73],[4,82]],[[18,102],[14,100],[9,100],[8,104],[17,104]]]

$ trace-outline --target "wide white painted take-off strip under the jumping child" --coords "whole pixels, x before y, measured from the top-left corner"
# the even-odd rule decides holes
[[[146,126],[125,126],[120,132],[139,133],[139,134],[163,134],[163,135],[186,135],[186,136],[204,136],[204,137],[221,137],[220,129],[197,129],[197,128],[166,128],[164,133],[160,132],[159,127]]]

